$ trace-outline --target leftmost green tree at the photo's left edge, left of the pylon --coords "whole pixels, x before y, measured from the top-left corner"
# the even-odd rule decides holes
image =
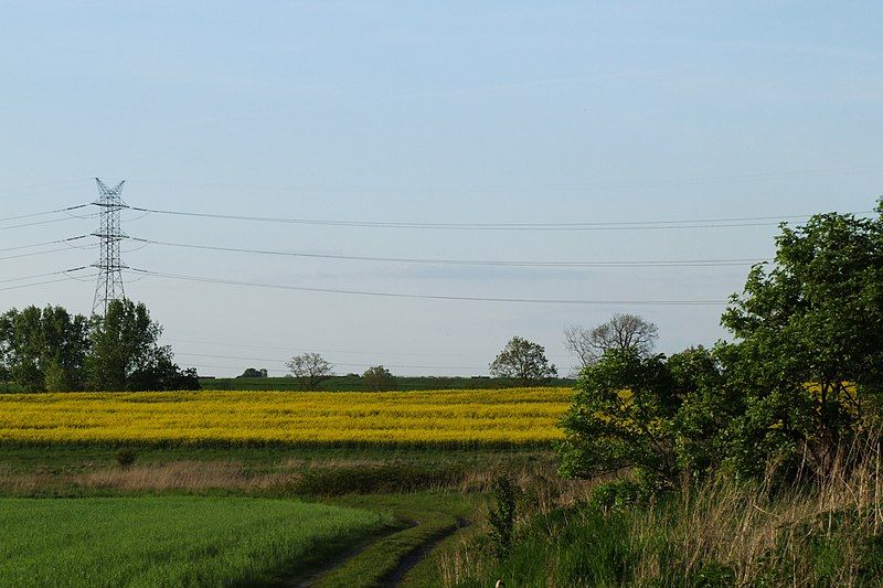
[[[22,391],[82,389],[88,346],[88,320],[62,307],[31,306],[0,316],[0,371]]]

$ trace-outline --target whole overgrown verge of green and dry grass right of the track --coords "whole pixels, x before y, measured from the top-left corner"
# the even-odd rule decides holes
[[[550,587],[883,586],[880,438],[838,451],[823,477],[781,479],[770,467],[759,481],[684,481],[674,494],[614,512],[550,509],[570,502],[568,489],[553,483],[520,514],[508,558],[497,560],[479,536],[439,554],[438,573],[460,587],[497,578]]]

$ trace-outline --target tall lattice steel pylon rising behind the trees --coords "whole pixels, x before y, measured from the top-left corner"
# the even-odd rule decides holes
[[[128,238],[128,235],[120,228],[119,212],[128,209],[128,205],[120,197],[125,180],[114,188],[107,188],[98,178],[95,179],[95,183],[98,184],[98,200],[93,204],[100,207],[102,227],[97,233],[93,233],[93,236],[102,239],[102,253],[98,263],[92,265],[99,271],[95,299],[92,302],[92,313],[100,312],[104,317],[110,300],[126,296],[126,290],[123,288],[123,270],[128,266],[119,258],[119,244],[123,239]]]

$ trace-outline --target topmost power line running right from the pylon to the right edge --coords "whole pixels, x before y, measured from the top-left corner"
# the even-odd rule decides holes
[[[699,218],[680,221],[631,221],[607,223],[401,223],[387,221],[336,221],[319,218],[292,218],[281,216],[247,216],[238,214],[215,214],[161,209],[142,209],[130,206],[132,211],[152,214],[188,216],[199,218],[219,218],[225,221],[248,221],[259,223],[281,223],[297,225],[362,227],[362,228],[406,228],[440,231],[657,231],[677,228],[727,228],[748,226],[777,226],[787,220],[809,218],[812,215],[800,214],[789,216],[743,216],[732,218]],[[870,214],[873,211],[860,211],[849,214]]]

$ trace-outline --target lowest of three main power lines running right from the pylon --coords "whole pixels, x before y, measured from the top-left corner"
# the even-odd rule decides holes
[[[257,281],[230,280],[222,278],[209,278],[202,276],[187,276],[181,274],[168,274],[151,271],[147,269],[129,268],[130,271],[155,276],[158,278],[177,279],[183,281],[196,281],[204,284],[223,284],[227,286],[246,286],[254,288],[268,288],[277,290],[295,290],[304,292],[338,293],[348,296],[368,296],[380,298],[413,298],[422,300],[456,300],[468,302],[514,302],[514,303],[535,303],[535,304],[626,304],[626,306],[723,306],[726,300],[584,300],[584,299],[555,299],[555,298],[492,298],[479,296],[448,296],[448,295],[415,295],[404,292],[377,292],[369,290],[344,290],[338,288],[313,288],[307,286],[286,286],[280,284],[265,284]]]

